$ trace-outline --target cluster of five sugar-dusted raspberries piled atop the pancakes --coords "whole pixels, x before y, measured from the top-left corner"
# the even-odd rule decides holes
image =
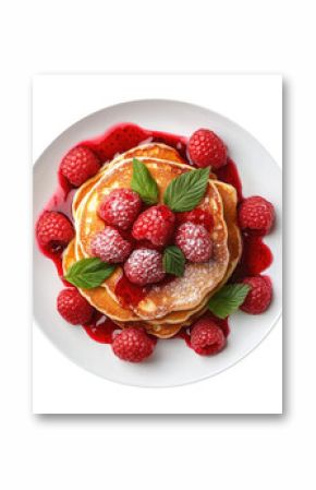
[[[207,262],[212,254],[211,215],[202,210],[179,213],[158,204],[142,211],[142,202],[130,189],[110,192],[98,208],[106,223],[90,241],[90,253],[108,263],[123,263],[133,284],[159,283],[165,247],[177,243],[190,262]]]

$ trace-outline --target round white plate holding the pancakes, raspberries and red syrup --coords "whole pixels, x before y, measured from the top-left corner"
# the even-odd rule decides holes
[[[81,327],[72,327],[58,314],[56,298],[62,284],[51,261],[34,244],[34,314],[36,324],[65,356],[88,371],[108,380],[136,386],[175,386],[193,383],[233,366],[270,332],[281,314],[281,170],[268,152],[245,130],[219,113],[173,100],[136,100],[95,112],[73,124],[42,153],[34,166],[34,220],[54,191],[57,168],[62,156],[81,140],[102,133],[109,126],[130,121],[144,128],[190,135],[210,128],[228,144],[239,166],[245,195],[259,194],[277,211],[277,226],[266,242],[275,255],[267,271],[274,283],[274,301],[264,314],[238,312],[230,319],[227,348],[214,357],[197,356],[181,339],[160,340],[147,362],[120,361],[111,347],[90,339]],[[267,359],[268,362],[268,359]]]

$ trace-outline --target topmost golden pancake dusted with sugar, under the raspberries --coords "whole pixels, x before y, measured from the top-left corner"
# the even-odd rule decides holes
[[[151,156],[151,155],[155,156]],[[178,156],[177,160],[174,155]],[[92,237],[105,228],[105,223],[98,217],[97,208],[105,195],[113,189],[130,188],[133,157],[137,156],[156,179],[160,192],[160,202],[165,189],[172,179],[192,167],[182,163],[178,153],[166,145],[143,145],[126,152],[114,159],[76,193],[73,203],[76,234],[84,256],[90,256]],[[158,158],[159,156],[159,158]],[[161,158],[163,156],[165,158]],[[168,159],[167,159],[168,158]],[[214,290],[223,278],[229,263],[228,234],[223,218],[223,206],[220,193],[212,181],[209,181],[206,195],[199,207],[207,208],[214,217],[214,228],[210,232],[214,241],[214,255],[208,263],[189,263],[183,277],[178,277],[169,284],[154,285],[147,296],[136,306],[133,312],[143,320],[161,319],[172,311],[191,310]],[[116,284],[122,275],[118,266],[104,286],[113,300]]]

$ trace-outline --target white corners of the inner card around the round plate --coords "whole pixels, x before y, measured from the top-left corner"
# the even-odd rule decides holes
[[[281,163],[282,80],[278,75],[37,76],[33,84],[34,160],[82,117],[138,98],[175,98],[219,111],[264,141]],[[54,187],[51,182],[51,193]],[[56,274],[52,264],[51,274]],[[37,414],[279,414],[281,321],[276,328],[250,359],[226,373],[190,386],[144,390],[73,369],[34,325],[33,409]]]

